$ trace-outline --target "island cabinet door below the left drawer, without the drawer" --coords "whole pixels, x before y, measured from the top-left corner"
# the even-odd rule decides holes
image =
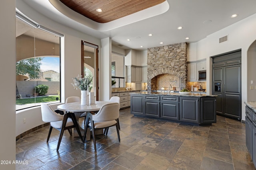
[[[153,102],[145,100],[145,116],[160,117],[160,102]]]

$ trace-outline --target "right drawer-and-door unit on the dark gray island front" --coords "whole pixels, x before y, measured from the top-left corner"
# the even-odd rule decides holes
[[[161,96],[160,117],[179,120],[179,97]]]

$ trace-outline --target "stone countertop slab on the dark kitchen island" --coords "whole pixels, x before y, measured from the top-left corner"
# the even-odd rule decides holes
[[[217,95],[207,95],[207,94],[179,94],[178,92],[133,92],[130,94],[144,94],[144,95],[161,95],[161,96],[188,96],[188,97],[216,97]]]

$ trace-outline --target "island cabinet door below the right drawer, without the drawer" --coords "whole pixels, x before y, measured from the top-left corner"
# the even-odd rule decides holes
[[[160,117],[170,120],[179,120],[179,103],[161,102]]]

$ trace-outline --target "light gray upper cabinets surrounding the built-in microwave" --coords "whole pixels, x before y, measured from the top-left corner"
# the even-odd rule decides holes
[[[203,82],[198,80],[198,71],[206,70],[206,59],[188,62],[188,81]],[[204,81],[205,82],[205,81]]]

